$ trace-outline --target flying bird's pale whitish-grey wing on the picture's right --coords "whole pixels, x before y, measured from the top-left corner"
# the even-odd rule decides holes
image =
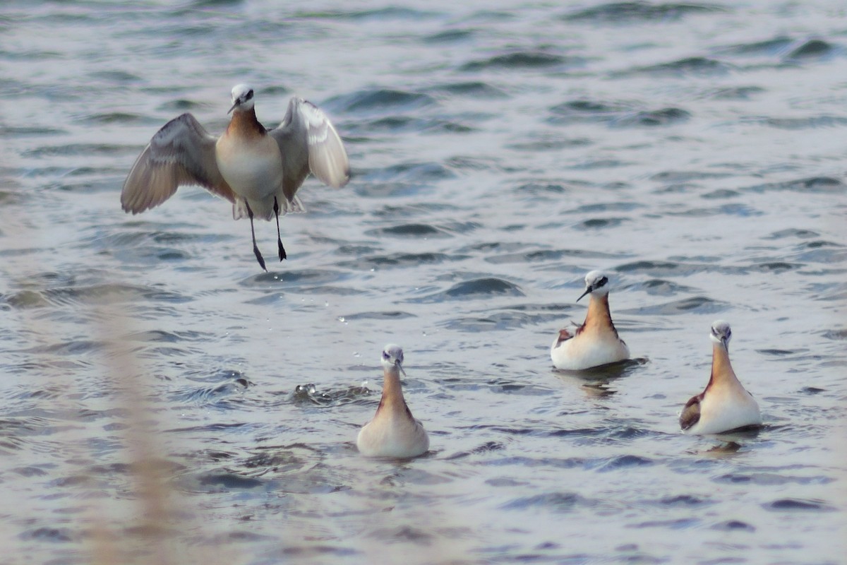
[[[283,194],[289,201],[309,173],[333,188],[350,180],[344,144],[326,114],[312,102],[291,98],[282,123],[268,133],[280,146]]]

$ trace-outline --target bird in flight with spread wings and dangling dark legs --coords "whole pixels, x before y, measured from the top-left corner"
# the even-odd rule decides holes
[[[120,195],[124,211],[144,212],[179,186],[200,185],[232,202],[233,219],[250,219],[253,253],[264,270],[253,218],[275,216],[280,261],[285,259],[280,213],[305,211],[296,192],[309,173],[339,188],[350,179],[350,164],[335,127],[312,102],[292,97],[273,130],[256,119],[255,102],[251,86],[235,85],[230,125],[220,137],[189,113],[163,125],[126,177]]]

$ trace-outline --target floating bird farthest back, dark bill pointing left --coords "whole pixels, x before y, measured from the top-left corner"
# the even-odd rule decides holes
[[[556,368],[579,371],[616,363],[629,358],[629,348],[617,336],[612,313],[609,312],[609,278],[601,271],[585,275],[585,291],[579,299],[590,295],[588,313],[582,325],[568,326],[556,335],[550,356]]]

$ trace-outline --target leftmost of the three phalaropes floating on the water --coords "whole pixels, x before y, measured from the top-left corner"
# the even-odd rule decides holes
[[[356,446],[368,457],[417,457],[429,449],[429,437],[403,398],[400,374],[405,377],[406,371],[400,346],[385,346],[382,368],[382,399],[374,418],[359,430]]]

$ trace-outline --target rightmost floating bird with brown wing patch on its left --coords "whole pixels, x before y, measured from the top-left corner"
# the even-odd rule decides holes
[[[711,324],[711,376],[706,390],[685,403],[679,426],[688,434],[720,434],[733,429],[761,425],[756,400],[741,385],[729,363],[729,324]]]

